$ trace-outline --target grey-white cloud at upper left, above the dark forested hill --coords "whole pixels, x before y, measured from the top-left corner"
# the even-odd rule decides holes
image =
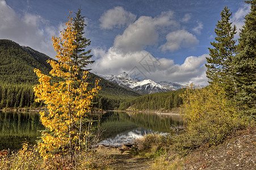
[[[0,1],[0,23],[1,39],[10,39],[20,45],[30,46],[49,57],[56,55],[51,37],[58,35],[60,30],[46,26],[47,20],[40,15],[25,13],[19,17],[5,1]],[[60,28],[62,28],[61,24]]]

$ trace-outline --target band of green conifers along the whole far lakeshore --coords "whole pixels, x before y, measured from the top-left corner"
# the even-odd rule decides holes
[[[99,95],[93,99],[94,108],[100,108],[103,110],[125,110],[132,107],[139,110],[159,110],[163,108],[169,110],[174,107],[179,107],[179,105],[182,104],[182,98],[179,97],[182,90],[161,92],[158,94],[150,94],[135,98],[135,96],[132,96],[135,95],[132,91],[127,90],[124,92],[121,87],[119,90],[116,88],[118,86],[114,85],[112,88],[109,88],[109,86],[110,84],[108,84],[108,88],[106,88],[105,91],[101,91]],[[125,96],[120,96],[121,92],[123,92]],[[35,95],[31,84],[0,84],[0,109],[26,107],[36,108],[42,106],[42,102],[35,102]]]

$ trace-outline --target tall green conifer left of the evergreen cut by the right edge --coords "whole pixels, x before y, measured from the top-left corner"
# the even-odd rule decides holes
[[[228,7],[224,7],[221,11],[221,20],[218,20],[215,28],[215,41],[211,42],[213,48],[209,49],[209,56],[207,58],[206,75],[209,83],[220,83],[225,88],[229,96],[234,93],[234,80],[231,74],[231,62],[236,53],[236,26],[231,26],[229,22],[232,12],[229,12]]]

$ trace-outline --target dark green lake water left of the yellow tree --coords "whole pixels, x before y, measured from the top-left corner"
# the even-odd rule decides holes
[[[38,113],[0,112],[0,151],[17,150],[24,141],[35,143],[43,129]]]

